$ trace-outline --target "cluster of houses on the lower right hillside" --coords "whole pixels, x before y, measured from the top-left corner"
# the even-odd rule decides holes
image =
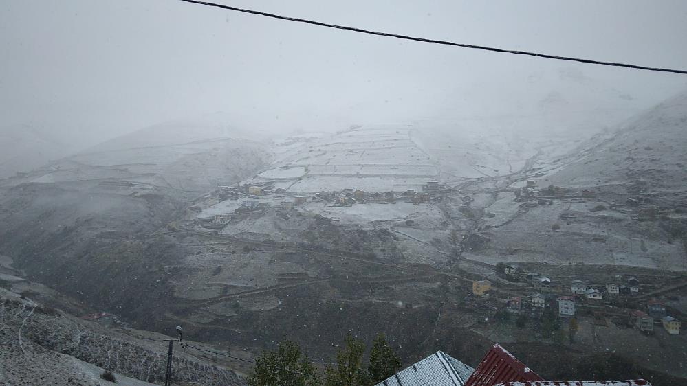
[[[505,266],[504,273],[512,275],[519,273],[517,266]],[[604,302],[611,302],[615,297],[632,297],[640,293],[640,281],[636,277],[629,277],[626,284],[609,282],[604,286],[589,286],[582,280],[572,280],[569,284],[554,283],[549,277],[527,273],[528,282],[534,288],[529,296],[509,297],[505,301],[505,309],[517,315],[542,315],[543,310],[554,308],[562,318],[574,317],[576,306],[591,306],[598,308]],[[472,294],[476,297],[488,295],[492,290],[489,280],[472,282]],[[596,308],[593,308],[596,307]],[[619,310],[619,308],[615,308]],[[662,325],[668,334],[679,334],[681,322],[666,313],[666,307],[657,299],[651,299],[644,310],[631,310],[629,323],[637,330],[645,333],[653,332],[655,324]]]

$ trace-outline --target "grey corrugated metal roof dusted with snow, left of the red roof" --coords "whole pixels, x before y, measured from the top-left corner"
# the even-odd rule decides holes
[[[464,386],[475,369],[437,351],[375,386]]]

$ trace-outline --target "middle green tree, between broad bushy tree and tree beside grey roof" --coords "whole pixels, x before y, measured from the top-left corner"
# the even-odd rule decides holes
[[[325,370],[325,386],[367,385],[367,374],[362,370],[364,352],[364,343],[347,334],[345,347],[336,353],[336,367],[327,366]]]

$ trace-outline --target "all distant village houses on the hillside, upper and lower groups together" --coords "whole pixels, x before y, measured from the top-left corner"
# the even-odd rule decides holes
[[[556,185],[541,189],[534,180],[527,180],[523,187],[512,191],[515,194],[515,201],[521,203],[520,206],[523,209],[549,205],[556,199],[587,200],[597,196],[597,193],[591,190],[577,192]],[[263,212],[270,208],[287,214],[307,203],[329,203],[334,207],[361,204],[387,205],[397,202],[420,205],[440,203],[446,199],[449,192],[452,192],[452,189],[438,181],[427,181],[420,192],[415,190],[367,192],[346,188],[310,195],[293,194],[283,188],[274,188],[272,181],[219,186],[215,194],[220,201],[243,199],[241,205],[234,209],[233,213],[215,214],[212,218],[199,221],[203,227],[221,229],[235,216]],[[272,198],[272,201],[265,201],[265,198]],[[281,201],[279,201],[280,198]],[[462,196],[461,200],[463,207],[469,207],[472,197]],[[613,207],[613,205],[615,201],[610,201],[609,206]],[[623,205],[618,206],[633,208],[631,217],[634,220],[652,220],[655,216],[669,210],[651,205],[650,201],[641,196],[628,198]],[[562,214],[561,218],[571,219],[574,215]],[[338,218],[331,218],[331,220],[336,221]],[[484,321],[489,321],[497,313],[502,312],[525,319],[540,319],[544,313],[554,313],[560,318],[573,318],[582,312],[584,315],[593,317],[594,323],[607,325],[607,317],[610,317],[609,319],[616,325],[632,327],[644,334],[653,333],[656,326],[663,328],[668,334],[679,334],[681,321],[675,315],[670,315],[665,304],[648,296],[653,292],[661,291],[653,291],[655,288],[653,284],[640,284],[637,277],[618,276],[604,283],[588,283],[580,279],[564,282],[527,271],[517,264],[499,263],[496,269],[497,276],[504,280],[527,284],[526,288],[530,293],[504,297],[503,294],[508,291],[499,291],[499,288],[496,288],[489,280],[473,281],[472,291],[468,294],[466,303],[476,313],[483,314]],[[644,288],[653,292],[644,293]]]

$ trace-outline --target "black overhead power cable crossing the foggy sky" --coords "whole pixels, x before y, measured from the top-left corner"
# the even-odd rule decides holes
[[[215,8],[221,8],[223,10],[230,10],[230,11],[235,11],[235,12],[243,12],[247,14],[257,14],[259,16],[265,16],[265,17],[270,17],[272,19],[279,19],[279,20],[285,20],[285,21],[294,21],[296,23],[305,23],[305,24],[311,24],[311,25],[318,25],[320,27],[327,27],[327,28],[334,28],[336,30],[347,30],[347,31],[353,31],[353,32],[359,32],[361,34],[370,34],[370,35],[376,35],[376,36],[386,36],[389,38],[399,38],[399,39],[404,39],[408,41],[418,41],[422,43],[434,43],[434,44],[439,44],[439,45],[450,45],[454,47],[463,47],[463,48],[470,48],[470,49],[481,49],[483,51],[491,51],[491,52],[500,52],[501,54],[514,54],[514,55],[526,55],[526,56],[535,56],[537,58],[547,58],[547,59],[555,59],[555,60],[567,60],[571,62],[579,62],[579,63],[588,63],[591,65],[604,65],[604,66],[613,66],[613,67],[626,67],[626,68],[631,68],[631,69],[642,69],[646,71],[659,71],[659,72],[670,72],[670,73],[681,73],[681,74],[687,74],[687,71],[685,70],[679,70],[679,69],[667,69],[667,68],[660,68],[660,67],[648,67],[648,66],[640,66],[640,65],[631,65],[628,63],[614,63],[614,62],[604,62],[602,60],[593,60],[593,59],[584,59],[584,58],[573,58],[570,56],[556,56],[556,55],[549,55],[549,54],[539,54],[537,52],[529,52],[529,51],[519,51],[519,50],[514,50],[514,49],[503,49],[503,48],[497,48],[497,47],[487,47],[484,45],[473,45],[473,44],[465,44],[465,43],[455,43],[451,41],[439,41],[435,39],[428,39],[428,38],[417,38],[413,36],[407,36],[407,35],[400,35],[400,34],[390,34],[389,32],[377,32],[377,31],[372,31],[372,30],[363,30],[362,28],[357,28],[357,27],[348,27],[346,25],[336,25],[336,24],[329,24],[329,23],[323,23],[321,21],[313,21],[313,20],[307,20],[307,19],[299,19],[296,17],[289,17],[289,16],[281,16],[278,14],[270,14],[267,12],[261,12],[261,11],[256,11],[256,10],[247,10],[244,8],[237,8],[237,7],[232,7],[230,5],[223,5],[223,4],[218,4],[218,3],[210,3],[208,1],[197,1],[197,0],[179,0],[179,1],[184,1],[185,3],[193,3],[193,4],[198,4],[198,5],[206,5],[208,7],[215,7]]]

